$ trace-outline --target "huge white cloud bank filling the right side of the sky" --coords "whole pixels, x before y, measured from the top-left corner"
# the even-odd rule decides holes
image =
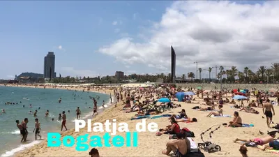
[[[268,10],[268,11],[267,11]],[[195,72],[211,66],[270,66],[279,57],[279,1],[244,4],[229,1],[176,1],[160,22],[148,28],[144,43],[120,38],[98,50],[123,63],[152,63],[170,69],[170,46],[176,66]],[[140,33],[140,32],[139,32]],[[199,68],[198,67],[198,68]]]

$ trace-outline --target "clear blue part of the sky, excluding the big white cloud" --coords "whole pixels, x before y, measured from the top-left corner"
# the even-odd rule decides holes
[[[22,72],[43,73],[43,59],[49,51],[56,55],[56,73],[61,73],[62,76],[114,75],[116,70],[126,73],[168,73],[168,61],[160,61],[162,65],[158,66],[159,63],[157,67],[149,65],[144,62],[148,57],[133,57],[133,52],[138,53],[135,56],[141,55],[140,49],[130,49],[141,44],[149,44],[150,48],[153,38],[160,32],[168,31],[169,28],[165,27],[163,21],[172,13],[167,8],[174,7],[173,3],[175,2],[0,1],[0,78],[11,79]],[[195,1],[191,3],[188,5],[193,5]],[[239,6],[250,4],[252,7],[255,3],[264,2],[237,3]],[[176,29],[172,31],[175,32]],[[113,47],[113,43],[125,38],[133,38],[133,42],[129,40],[130,46],[127,49],[130,51],[126,53],[131,53],[130,60],[135,59],[135,63],[117,59],[118,56],[127,56],[122,55],[121,49],[118,52],[100,51],[100,48]],[[172,45],[176,43],[172,42]],[[166,47],[170,47],[170,44],[166,44]],[[195,61],[197,57],[190,60]],[[178,73],[187,73],[195,65],[191,65],[190,69],[181,67],[176,68],[183,71]]]

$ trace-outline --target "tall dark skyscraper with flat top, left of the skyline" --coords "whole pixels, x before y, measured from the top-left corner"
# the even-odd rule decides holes
[[[52,80],[54,77],[56,77],[55,55],[54,52],[48,52],[44,61],[44,78],[45,80]]]

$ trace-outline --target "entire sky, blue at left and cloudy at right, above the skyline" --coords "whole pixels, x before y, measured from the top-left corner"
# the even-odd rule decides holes
[[[167,74],[171,45],[176,76],[257,70],[279,62],[278,19],[279,1],[0,1],[0,79],[43,73],[47,52],[62,77]]]

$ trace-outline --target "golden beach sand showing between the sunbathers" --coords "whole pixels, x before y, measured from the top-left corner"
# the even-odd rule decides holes
[[[82,88],[80,88],[82,90]],[[110,91],[106,91],[110,92]],[[113,92],[112,92],[113,93]],[[253,98],[255,99],[255,98]],[[273,100],[275,98],[271,98]],[[202,142],[200,138],[200,133],[204,132],[212,125],[215,124],[223,124],[229,123],[232,118],[209,118],[206,117],[209,112],[202,112],[191,109],[194,106],[197,106],[202,103],[202,99],[198,99],[200,101],[194,101],[194,103],[181,103],[182,107],[175,108],[173,110],[167,110],[163,114],[176,114],[181,111],[181,109],[185,109],[188,117],[197,118],[197,123],[179,123],[181,128],[187,127],[195,133],[193,139],[196,143]],[[232,115],[236,109],[231,108],[230,105],[224,105],[223,110],[224,114]],[[116,119],[117,122],[126,122],[129,125],[129,129],[131,132],[135,131],[135,124],[142,120],[130,120],[131,117],[135,115],[136,112],[124,113],[121,110],[123,106],[118,104],[117,107],[110,107],[105,110],[102,114],[99,114],[96,118],[93,119],[92,122],[105,122],[106,119]],[[279,113],[279,107],[274,106],[276,110],[276,114]],[[267,130],[269,129],[266,126],[266,118],[262,118],[264,114],[262,113],[262,108],[256,108],[259,114],[250,114],[246,112],[239,112],[240,117],[243,119],[243,124],[254,124],[254,127],[251,128],[229,128],[225,126],[221,126],[219,130],[216,130],[213,133],[213,137],[211,139],[212,142],[219,144],[222,151],[216,153],[206,153],[204,151],[205,156],[241,156],[239,153],[239,143],[234,143],[233,140],[236,138],[241,139],[253,139],[255,137],[264,137],[267,134]],[[274,117],[276,121],[277,115]],[[158,124],[158,128],[165,128],[165,126],[169,125],[169,120],[167,117],[158,118],[158,119],[146,119],[146,123],[156,122]],[[259,130],[261,130],[264,135],[259,134]],[[59,132],[59,130],[57,130]],[[61,135],[73,135],[77,137],[78,135],[84,135],[87,133],[86,128],[80,130],[79,133],[76,133],[74,129],[68,130],[66,132],[62,132]],[[100,135],[103,136],[104,133],[89,133],[91,135]],[[117,135],[125,135],[125,133],[117,133]],[[278,135],[279,136],[279,135]],[[277,136],[277,137],[278,137]],[[46,138],[46,137],[45,137]],[[209,139],[209,133],[204,135],[204,140]],[[165,156],[161,154],[161,152],[166,148],[165,144],[169,142],[169,135],[161,135],[156,136],[155,133],[145,132],[138,133],[138,147],[98,147],[98,151],[100,156]],[[89,143],[89,142],[88,142]],[[89,156],[89,151],[76,151],[75,147],[47,147],[47,141],[43,141],[40,144],[36,144],[29,149],[21,151],[15,156]],[[248,147],[248,156],[278,156],[276,154],[271,154],[265,151],[261,151],[256,148]]]

